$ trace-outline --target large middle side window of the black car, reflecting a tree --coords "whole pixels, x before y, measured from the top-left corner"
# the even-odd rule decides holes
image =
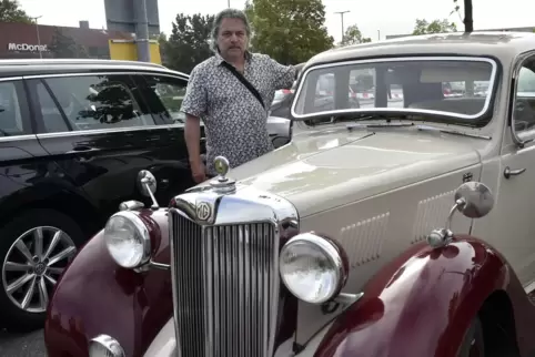
[[[128,75],[49,78],[37,92],[49,133],[155,124]]]

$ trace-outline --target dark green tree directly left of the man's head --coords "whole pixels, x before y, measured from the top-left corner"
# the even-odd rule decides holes
[[[196,64],[212,54],[209,40],[213,18],[200,13],[176,14],[171,35],[163,42],[165,61],[171,69],[190,73]]]

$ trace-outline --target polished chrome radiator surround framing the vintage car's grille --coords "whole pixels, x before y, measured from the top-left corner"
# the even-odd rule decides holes
[[[279,271],[279,245],[280,239],[282,236],[287,234],[286,231],[290,230],[299,230],[299,214],[296,208],[293,206],[292,203],[289,201],[275,196],[271,193],[261,192],[255,190],[254,187],[239,187],[232,194],[218,194],[211,190],[198,190],[184,193],[174,197],[175,207],[170,208],[169,211],[169,230],[170,230],[170,248],[171,248],[171,262],[174,262],[178,257],[175,256],[175,248],[176,242],[174,242],[174,224],[173,224],[173,216],[181,215],[182,217],[194,222],[198,224],[203,231],[203,238],[208,238],[208,235],[204,234],[206,230],[209,231],[216,231],[214,230],[218,226],[229,226],[229,225],[252,225],[256,223],[271,223],[274,226],[274,238],[276,239],[275,245],[276,247],[273,251],[273,261],[270,265],[275,268],[275,272]],[[196,217],[196,207],[202,206],[203,208],[209,207],[210,216],[206,221],[200,221]],[[204,214],[203,214],[204,216]],[[206,262],[206,264],[210,262]],[[246,262],[244,262],[246,264]],[[280,274],[271,274],[271,284],[273,284],[272,294],[269,297],[271,302],[271,306],[266,307],[270,308],[271,312],[269,313],[270,316],[270,330],[265,332],[264,336],[269,334],[269,341],[266,348],[264,349],[265,357],[273,356],[274,353],[274,344],[275,344],[275,334],[277,328],[277,314],[279,314],[279,298],[280,298]],[[180,340],[180,326],[178,324],[179,318],[179,308],[178,306],[178,276],[176,269],[171,269],[172,276],[172,292],[173,292],[173,316],[175,320],[175,338],[176,345],[179,346]],[[245,276],[245,279],[248,277]],[[216,292],[213,292],[214,294]],[[205,312],[208,314],[205,316],[205,323],[211,322],[212,315],[210,312]],[[216,327],[219,326],[218,322],[214,323]],[[223,327],[223,326],[219,326]],[[252,326],[250,326],[253,328]],[[209,339],[212,339],[213,336],[206,336]],[[211,343],[214,343],[212,339]],[[264,339],[263,343],[266,343]],[[209,348],[209,346],[206,346]],[[210,356],[206,354],[204,356]],[[182,356],[186,357],[186,356]],[[261,356],[259,356],[261,357]]]

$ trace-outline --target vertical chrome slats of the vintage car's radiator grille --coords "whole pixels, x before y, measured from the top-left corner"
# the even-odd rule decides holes
[[[181,357],[268,357],[279,289],[274,225],[202,226],[171,213]]]

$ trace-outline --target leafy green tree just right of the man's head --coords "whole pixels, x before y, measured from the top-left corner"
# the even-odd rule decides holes
[[[251,0],[245,12],[251,21],[254,51],[280,63],[305,62],[333,47],[321,0]]]

